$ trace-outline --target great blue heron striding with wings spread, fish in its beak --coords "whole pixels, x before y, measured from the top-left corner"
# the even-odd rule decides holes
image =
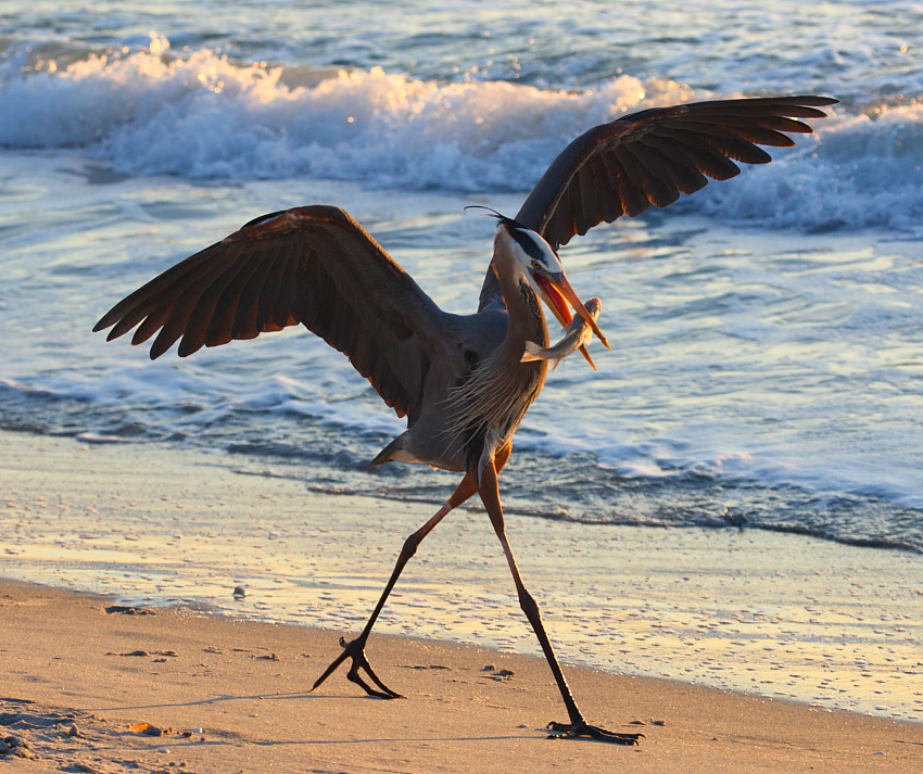
[[[477,492],[567,707],[569,722],[548,727],[567,737],[636,744],[638,734],[590,725],[578,709],[506,538],[497,474],[548,370],[541,359],[521,361],[526,343],[548,345],[540,300],[561,323],[571,320],[569,302],[605,343],[565,277],[560,245],[599,223],[637,215],[650,204],[667,206],[703,188],[707,177],[733,177],[739,168],[732,160],[769,162],[758,145],[793,145],[789,134],[811,131],[797,118],[822,118],[818,107],[835,102],[810,96],[698,102],[590,129],[555,158],[515,219],[497,217],[493,259],[472,315],[440,309],[352,217],[315,205],[251,220],[102,317],[93,330],[114,326],[110,340],[137,326],[131,343],[139,344],[160,330],[152,358],[180,337],[185,357],[203,344],[304,325],[344,353],[399,417],[407,417],[407,430],[371,465],[425,462],[464,473],[445,505],[407,537],[362,633],[350,643],[341,638],[342,654],[314,688],[351,659],[347,677],[368,695],[400,696],[366,658],[369,633],[420,541]]]

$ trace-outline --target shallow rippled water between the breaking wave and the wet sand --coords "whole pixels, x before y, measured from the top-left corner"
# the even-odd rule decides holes
[[[366,213],[438,303],[465,312],[491,227],[463,216],[464,199],[381,198],[326,182],[201,188],[129,178],[88,187],[85,167],[67,156],[8,154],[8,166],[14,161],[53,185],[31,183],[5,204],[26,233],[0,291],[17,342],[3,355],[5,426],[226,448],[267,456],[325,491],[443,498],[447,474],[365,470],[402,423],[307,333],[150,363],[87,327],[111,301],[243,219],[227,213],[248,217],[251,200],[273,210],[331,188]],[[11,177],[24,175],[14,168]],[[71,189],[83,203],[65,195],[59,204]],[[195,204],[184,205],[187,196]],[[598,373],[571,359],[549,378],[504,475],[508,506],[585,521],[745,523],[923,546],[923,275],[913,243],[852,236],[831,250],[820,237],[770,243],[700,218],[660,220],[566,249],[576,287],[605,300],[614,353],[597,352]],[[42,310],[49,300],[53,314]]]

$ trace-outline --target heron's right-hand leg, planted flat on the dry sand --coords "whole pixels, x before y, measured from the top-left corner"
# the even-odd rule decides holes
[[[616,745],[636,745],[638,738],[644,736],[644,734],[619,734],[606,731],[605,728],[599,728],[595,725],[590,725],[583,716],[583,713],[577,707],[577,701],[574,701],[573,695],[570,693],[570,688],[564,677],[564,672],[561,672],[560,664],[555,656],[554,648],[552,648],[552,643],[548,639],[548,635],[545,633],[545,626],[542,623],[542,617],[539,613],[539,606],[532,598],[532,595],[527,591],[526,585],[522,583],[522,578],[519,574],[519,568],[516,566],[516,559],[513,556],[513,549],[509,547],[509,541],[506,538],[506,528],[503,520],[503,507],[500,502],[500,487],[496,474],[497,469],[494,461],[488,460],[480,471],[478,492],[484,503],[488,516],[490,516],[494,532],[496,532],[497,537],[500,537],[504,556],[506,556],[506,561],[509,564],[510,572],[513,573],[513,582],[516,584],[516,592],[519,595],[519,607],[522,608],[522,612],[526,613],[526,618],[529,619],[529,623],[532,625],[532,630],[539,638],[539,644],[542,646],[542,651],[545,654],[545,659],[548,662],[548,667],[552,669],[552,674],[555,677],[558,690],[560,690],[561,698],[564,699],[565,707],[567,708],[567,713],[570,716],[570,723],[548,723],[548,728],[555,732],[561,732],[559,736],[553,736],[551,738],[577,738],[585,736]]]

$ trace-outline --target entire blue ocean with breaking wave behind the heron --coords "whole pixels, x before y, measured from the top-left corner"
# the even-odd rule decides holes
[[[561,251],[599,372],[549,376],[508,511],[923,551],[923,8],[912,2],[0,2],[0,427],[216,449],[441,503],[306,331],[150,363],[96,320],[289,206],[343,206],[444,308],[565,144],[652,105],[820,93],[768,166]]]

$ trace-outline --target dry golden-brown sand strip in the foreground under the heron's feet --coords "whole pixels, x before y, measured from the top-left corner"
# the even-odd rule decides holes
[[[406,699],[365,698],[342,678],[308,694],[338,651],[333,632],[134,610],[0,582],[0,731],[38,756],[12,771],[894,773],[923,762],[919,724],[583,668],[568,677],[587,715],[645,738],[549,741],[544,724],[562,708],[532,657],[380,636],[376,664]]]

